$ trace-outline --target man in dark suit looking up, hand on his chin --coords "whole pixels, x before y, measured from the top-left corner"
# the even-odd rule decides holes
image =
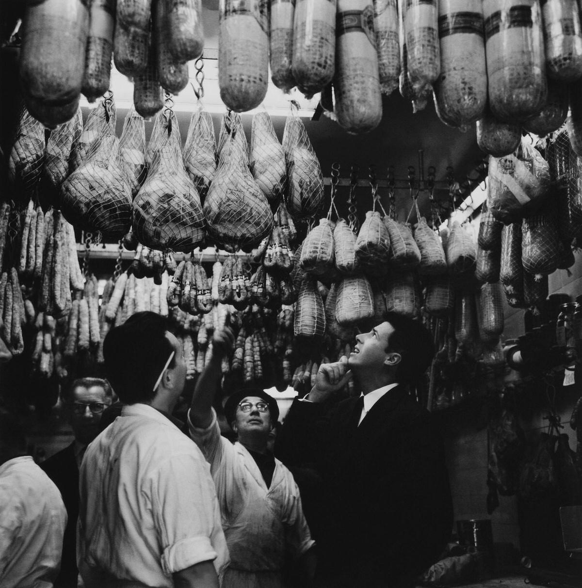
[[[406,386],[430,365],[433,342],[420,323],[394,314],[356,341],[295,400],[277,453],[291,466],[314,464],[324,479],[321,586],[412,586],[453,524],[443,442]],[[361,396],[330,407],[351,377]]]

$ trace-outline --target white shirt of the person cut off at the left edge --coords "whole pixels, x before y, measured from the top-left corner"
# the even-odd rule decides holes
[[[0,586],[51,588],[61,567],[66,509],[30,456],[0,466]]]

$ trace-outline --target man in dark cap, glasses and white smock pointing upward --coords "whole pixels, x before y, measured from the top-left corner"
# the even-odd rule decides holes
[[[297,560],[311,582],[314,554],[299,490],[291,472],[268,450],[279,417],[277,402],[260,388],[235,392],[224,412],[237,435],[234,445],[221,437],[212,397],[221,362],[234,346],[225,327],[215,332],[212,357],[201,373],[188,412],[189,432],[210,463],[231,563],[222,588],[280,588],[286,560]]]

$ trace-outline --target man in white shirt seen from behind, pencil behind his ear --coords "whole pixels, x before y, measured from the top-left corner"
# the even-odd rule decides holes
[[[153,312],[107,334],[105,373],[123,403],[81,465],[77,562],[85,588],[218,588],[228,563],[210,469],[172,415],[181,343]]]

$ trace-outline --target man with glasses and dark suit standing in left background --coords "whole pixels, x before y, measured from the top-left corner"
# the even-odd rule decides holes
[[[62,397],[74,442],[41,463],[42,469],[61,491],[68,520],[62,547],[61,572],[55,588],[77,586],[77,517],[79,516],[79,467],[89,443],[97,437],[105,407],[111,405],[111,386],[106,380],[84,377],[73,382]]]

